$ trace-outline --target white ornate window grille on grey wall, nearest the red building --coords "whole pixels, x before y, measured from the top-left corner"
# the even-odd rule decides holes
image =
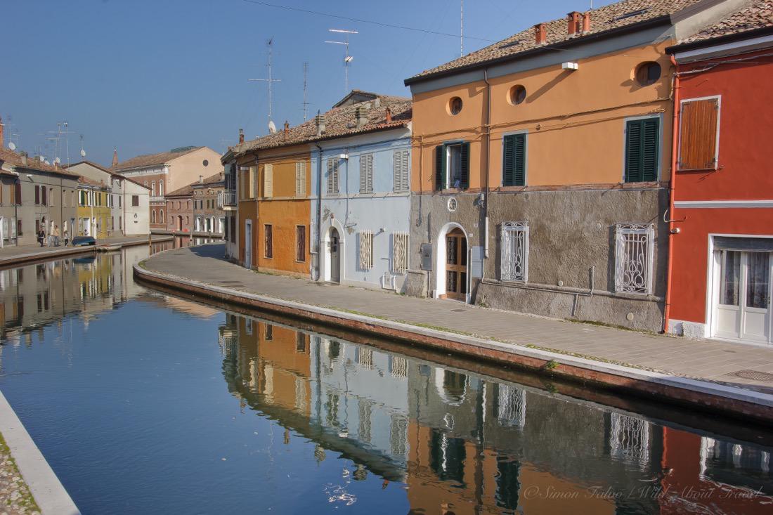
[[[652,295],[655,227],[627,223],[615,227],[615,292]]]

